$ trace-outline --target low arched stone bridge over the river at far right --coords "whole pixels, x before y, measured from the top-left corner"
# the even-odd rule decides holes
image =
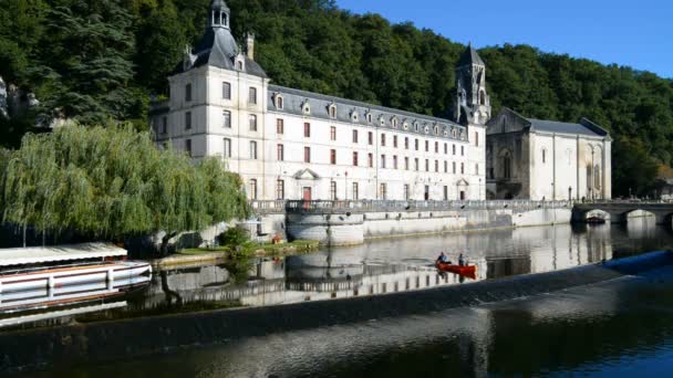
[[[576,202],[572,208],[572,220],[576,222],[598,218],[612,223],[628,223],[630,218],[641,217],[654,217],[656,224],[671,225],[673,220],[673,202]]]

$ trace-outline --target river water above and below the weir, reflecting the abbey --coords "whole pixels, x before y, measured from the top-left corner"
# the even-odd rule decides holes
[[[629,225],[545,227],[367,242],[249,266],[155,272],[124,306],[81,322],[230,306],[380,295],[541,273],[673,248],[649,219]],[[438,251],[463,253],[475,280],[438,276]],[[56,324],[59,319],[52,319]],[[44,324],[41,324],[44,326]],[[663,375],[673,368],[673,267],[587,287],[230,340],[38,376],[410,377]]]

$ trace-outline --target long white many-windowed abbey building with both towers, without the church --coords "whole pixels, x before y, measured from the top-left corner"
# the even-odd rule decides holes
[[[460,124],[272,85],[231,35],[224,0],[155,106],[159,145],[221,157],[250,199],[486,199],[485,65],[469,48],[457,69]]]

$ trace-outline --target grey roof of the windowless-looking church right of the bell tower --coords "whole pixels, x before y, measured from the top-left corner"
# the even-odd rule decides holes
[[[504,107],[497,116],[487,123],[487,134],[505,134],[516,132],[543,132],[568,135],[583,135],[610,138],[609,133],[587,118],[578,123],[526,118],[515,111]]]

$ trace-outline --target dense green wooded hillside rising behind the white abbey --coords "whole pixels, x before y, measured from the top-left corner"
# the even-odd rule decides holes
[[[132,119],[146,127],[151,94],[196,43],[209,0],[4,0],[0,75],[32,91],[37,113],[83,123]],[[358,15],[331,0],[228,0],[234,32],[257,35],[256,60],[275,83],[447,116],[464,45],[411,23]],[[673,161],[673,82],[527,45],[479,51],[494,112],[536,118],[586,116],[608,128],[613,192],[645,192],[656,165]],[[17,144],[30,117],[2,127]]]

